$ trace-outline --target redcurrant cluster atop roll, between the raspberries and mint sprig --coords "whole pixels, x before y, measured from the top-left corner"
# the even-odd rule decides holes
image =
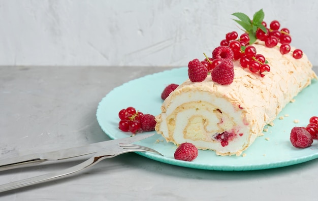
[[[261,77],[270,72],[270,66],[266,63],[264,55],[257,54],[256,48],[249,45],[247,33],[243,33],[238,38],[236,31],[229,32],[220,45],[229,46],[233,50],[234,60],[239,60],[243,69],[248,68],[250,72],[259,73]]]

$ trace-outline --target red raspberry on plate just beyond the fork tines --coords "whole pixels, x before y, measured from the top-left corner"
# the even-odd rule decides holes
[[[192,161],[198,156],[198,149],[192,143],[182,143],[175,151],[174,158],[177,160]]]

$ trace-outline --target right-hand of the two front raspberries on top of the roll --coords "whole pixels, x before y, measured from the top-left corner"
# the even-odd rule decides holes
[[[212,71],[213,82],[221,85],[231,84],[234,80],[234,65],[232,60],[226,60],[218,64]]]

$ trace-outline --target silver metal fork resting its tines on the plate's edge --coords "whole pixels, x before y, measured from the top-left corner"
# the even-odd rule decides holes
[[[153,152],[153,153],[162,155],[161,153],[151,148],[144,147],[141,145],[130,144],[130,143],[119,143],[119,144],[116,144],[116,146],[102,148],[96,154],[90,157],[88,160],[78,165],[72,166],[71,168],[0,185],[0,192],[13,190],[16,188],[21,188],[25,186],[34,185],[34,184],[39,184],[39,183],[55,180],[61,177],[66,177],[71,174],[77,173],[79,171],[88,169],[89,167],[93,166],[94,164],[97,164],[98,162],[106,158],[112,158],[112,157],[118,156],[123,153],[128,153],[128,152]]]

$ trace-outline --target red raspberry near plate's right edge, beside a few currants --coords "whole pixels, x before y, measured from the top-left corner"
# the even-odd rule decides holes
[[[290,137],[291,143],[297,148],[309,147],[313,140],[310,133],[304,127],[293,127]]]

